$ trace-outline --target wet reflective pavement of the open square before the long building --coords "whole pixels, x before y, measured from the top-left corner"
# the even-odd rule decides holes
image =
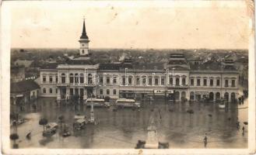
[[[110,108],[94,108],[94,115],[100,120],[96,126],[86,125],[86,129],[73,132],[74,115],[87,115],[90,108],[85,105],[60,106],[54,98],[40,98],[36,101],[37,111],[26,105],[20,112],[28,122],[11,127],[11,132],[19,135],[19,148],[135,148],[138,140],[146,140],[149,117],[153,115],[160,142],[168,142],[170,148],[205,148],[203,139],[208,136],[206,148],[246,148],[247,147],[247,100],[244,105],[230,104],[228,112],[219,109],[217,103],[175,103],[164,101],[141,102],[142,108],[132,110],[121,108],[113,112]],[[154,111],[152,112],[152,109]],[[189,114],[187,110],[193,110]],[[12,111],[16,111],[12,107]],[[56,133],[51,138],[42,136],[40,118],[48,122],[58,122],[64,115],[72,136],[62,137]],[[229,119],[230,118],[230,119]],[[237,121],[240,129],[237,129]],[[242,135],[242,127],[245,133]],[[32,131],[31,139],[26,134]]]

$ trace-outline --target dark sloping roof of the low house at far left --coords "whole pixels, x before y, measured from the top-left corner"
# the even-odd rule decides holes
[[[19,93],[39,89],[39,85],[33,80],[11,83],[11,93]]]

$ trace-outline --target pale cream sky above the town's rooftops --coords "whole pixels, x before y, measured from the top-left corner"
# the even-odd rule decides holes
[[[11,46],[79,48],[82,20],[90,48],[247,49],[243,1],[11,3]]]

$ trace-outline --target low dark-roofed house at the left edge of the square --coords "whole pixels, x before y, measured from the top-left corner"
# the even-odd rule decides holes
[[[40,96],[40,86],[33,80],[11,83],[11,104],[32,102]]]

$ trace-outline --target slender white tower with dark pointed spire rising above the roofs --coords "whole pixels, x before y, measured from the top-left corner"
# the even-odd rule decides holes
[[[89,38],[86,34],[85,19],[83,19],[82,36],[80,36],[79,43],[80,43],[80,48],[79,48],[80,56],[88,56]]]

